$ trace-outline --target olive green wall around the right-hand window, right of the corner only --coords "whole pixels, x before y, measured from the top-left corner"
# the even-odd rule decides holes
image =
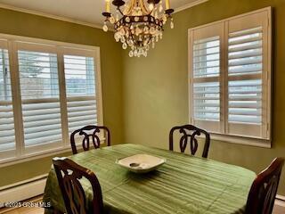
[[[209,0],[175,13],[175,29],[166,29],[163,40],[147,58],[134,59],[126,54],[123,76],[126,143],[167,149],[169,129],[188,123],[188,29],[267,6],[274,8],[273,148],[212,142],[209,157],[256,172],[274,157],[285,157],[284,0]],[[285,195],[284,173],[279,193]]]

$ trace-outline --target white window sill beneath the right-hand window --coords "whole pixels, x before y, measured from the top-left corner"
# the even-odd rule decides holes
[[[231,144],[244,144],[262,148],[272,148],[271,140],[250,138],[245,136],[227,136],[222,134],[211,133],[211,140],[222,141]]]

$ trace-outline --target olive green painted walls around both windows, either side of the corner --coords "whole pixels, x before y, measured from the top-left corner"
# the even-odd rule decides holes
[[[140,59],[129,58],[111,33],[23,12],[0,9],[0,33],[100,46],[104,124],[112,144],[167,149],[169,129],[188,122],[187,29],[266,6],[274,8],[273,148],[212,142],[209,152],[212,159],[258,172],[285,156],[285,0],[210,0],[175,13],[175,29],[166,29],[163,40]],[[0,168],[0,186],[47,173],[50,165],[48,157]],[[284,173],[279,193],[285,195]]]

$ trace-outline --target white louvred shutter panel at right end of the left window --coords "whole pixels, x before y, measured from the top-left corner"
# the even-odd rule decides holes
[[[97,125],[94,57],[64,55],[69,134]]]

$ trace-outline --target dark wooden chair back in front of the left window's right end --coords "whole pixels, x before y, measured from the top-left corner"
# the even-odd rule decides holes
[[[82,147],[84,151],[88,151],[90,149],[90,138],[92,140],[92,144],[95,149],[100,148],[100,138],[99,134],[103,133],[106,137],[107,146],[110,146],[110,130],[107,127],[102,126],[86,126],[84,128],[80,128],[72,132],[70,135],[70,144],[72,148],[72,153],[77,153],[77,145],[76,145],[76,137],[83,136]]]

